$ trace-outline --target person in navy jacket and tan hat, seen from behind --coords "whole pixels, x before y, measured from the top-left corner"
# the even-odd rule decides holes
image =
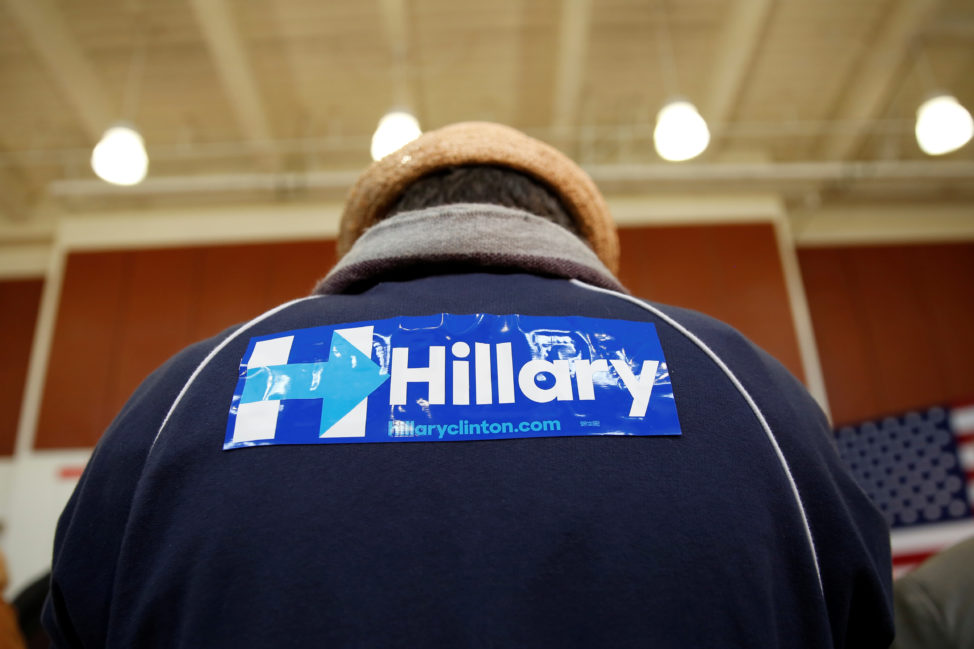
[[[541,147],[452,127],[378,170],[457,128]],[[590,182],[545,161],[517,170]],[[885,525],[780,364],[628,296],[600,202],[558,196],[595,252],[485,204],[358,228],[416,180],[370,173],[316,295],[176,356],[106,433],[56,646],[888,646]]]

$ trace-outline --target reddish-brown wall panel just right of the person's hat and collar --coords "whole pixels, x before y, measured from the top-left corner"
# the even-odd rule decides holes
[[[804,380],[770,224],[622,228],[620,279],[634,295],[723,320]]]

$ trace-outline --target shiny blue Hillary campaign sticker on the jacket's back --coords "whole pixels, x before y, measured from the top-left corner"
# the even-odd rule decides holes
[[[443,313],[252,338],[223,448],[679,434],[652,323]]]

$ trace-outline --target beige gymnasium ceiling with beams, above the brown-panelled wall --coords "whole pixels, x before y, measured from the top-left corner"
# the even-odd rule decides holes
[[[968,202],[974,144],[913,138],[938,89],[974,108],[974,0],[0,0],[0,224],[340,200],[396,106],[525,130],[610,194]],[[677,95],[713,140],[664,163]],[[118,120],[135,188],[88,165]]]

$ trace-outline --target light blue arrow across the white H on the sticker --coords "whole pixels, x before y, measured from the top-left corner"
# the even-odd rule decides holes
[[[321,399],[319,436],[352,412],[389,380],[372,359],[337,331],[328,361],[248,367],[240,403],[280,399]],[[364,411],[363,411],[364,417]],[[364,419],[361,422],[364,434]]]

